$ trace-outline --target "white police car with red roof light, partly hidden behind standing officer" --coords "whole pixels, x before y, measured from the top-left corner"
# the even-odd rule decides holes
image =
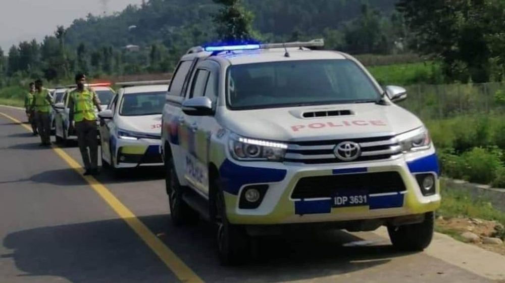
[[[100,100],[102,109],[106,109],[107,106],[111,103],[112,98],[114,97],[114,90],[110,87],[111,83],[90,83],[86,84],[86,87],[90,87],[96,92],[98,99]],[[67,144],[67,141],[71,137],[77,138],[74,127],[70,124],[69,115],[70,109],[68,108],[70,92],[75,89],[75,85],[68,86],[65,91],[62,101],[55,104],[56,113],[55,113],[55,136],[56,142],[62,143],[64,145]],[[98,111],[95,108],[95,112]],[[97,121],[98,123],[98,121]]]

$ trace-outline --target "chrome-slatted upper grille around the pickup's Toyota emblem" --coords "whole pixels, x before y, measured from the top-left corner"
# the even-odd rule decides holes
[[[354,141],[360,145],[361,155],[352,161],[342,161],[334,154],[336,145]],[[343,163],[384,160],[401,154],[401,147],[394,136],[378,136],[349,139],[292,141],[288,144],[284,162],[305,164]]]

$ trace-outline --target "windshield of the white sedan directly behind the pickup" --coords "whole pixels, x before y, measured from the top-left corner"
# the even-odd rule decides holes
[[[161,114],[167,91],[127,93],[123,95],[120,115],[141,116]]]

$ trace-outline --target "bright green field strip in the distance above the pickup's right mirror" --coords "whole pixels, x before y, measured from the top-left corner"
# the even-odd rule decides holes
[[[439,66],[431,62],[370,66],[367,69],[382,85],[435,83]]]

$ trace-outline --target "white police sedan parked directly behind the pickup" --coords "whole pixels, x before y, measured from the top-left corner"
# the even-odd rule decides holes
[[[100,118],[102,165],[117,168],[163,166],[161,113],[168,80],[122,85]]]

